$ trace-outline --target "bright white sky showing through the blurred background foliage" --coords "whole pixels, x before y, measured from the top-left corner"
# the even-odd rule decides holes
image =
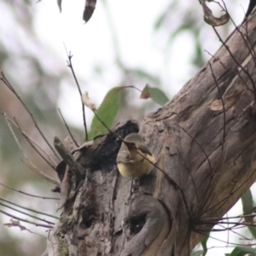
[[[183,4],[194,2],[198,4],[197,0],[180,1]],[[245,2],[241,3],[246,9]],[[82,20],[84,0],[62,1],[61,14],[56,1],[42,0],[35,5],[37,13],[35,27],[38,37],[43,40],[45,47],[54,49],[55,55],[60,56],[63,65],[67,60],[63,43],[66,44],[67,49],[73,54],[73,66],[77,75],[84,79],[80,81],[82,90],[89,91],[90,97],[97,106],[102,102],[108,90],[119,85],[121,77],[115,63],[113,41],[102,3],[103,1],[97,1],[96,11],[85,25]],[[189,44],[193,40],[189,32],[183,32],[172,44],[172,49],[165,52],[162,46],[162,41],[166,39],[165,36],[154,32],[153,26],[156,18],[166,9],[170,1],[111,0],[108,3],[113,29],[119,42],[121,60],[128,67],[141,67],[149,73],[158,74],[163,84],[151,85],[162,88],[169,97],[176,94],[183,84],[196,73],[194,67],[189,65],[195,49],[193,44]],[[228,3],[230,2],[227,2],[228,8],[234,8]],[[236,22],[239,22],[243,15],[239,3],[238,7],[238,9],[237,6],[236,9],[234,8],[238,14],[234,15]],[[202,19],[200,6],[196,10],[195,15],[198,15],[198,19]],[[178,13],[173,14],[170,26],[175,26],[177,17]],[[215,35],[207,26],[204,31],[204,36],[201,38],[202,48],[214,54],[218,49],[218,40],[212,39]],[[205,55],[209,58],[207,53]],[[101,78],[94,76],[92,67],[95,65],[99,65],[105,71]],[[72,100],[78,99],[78,91],[72,83],[73,81],[63,80],[58,103],[65,119],[80,127],[81,113],[76,110],[80,110],[81,107],[78,100]],[[135,85],[140,89],[144,86],[144,84]],[[137,104],[141,104],[141,101]],[[90,119],[92,119],[92,113],[90,113]]]

